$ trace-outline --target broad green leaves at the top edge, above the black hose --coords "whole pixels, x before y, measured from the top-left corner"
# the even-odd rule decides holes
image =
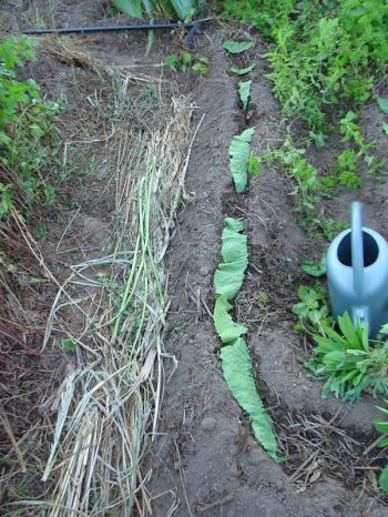
[[[143,19],[162,16],[188,21],[204,7],[204,0],[112,0],[112,3],[130,18]]]

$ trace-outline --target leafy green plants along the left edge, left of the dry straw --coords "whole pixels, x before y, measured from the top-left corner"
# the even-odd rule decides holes
[[[0,183],[0,217],[10,211],[14,195],[22,203],[52,204],[55,192],[44,181],[43,169],[53,161],[47,140],[63,102],[42,99],[32,80],[18,80],[18,68],[34,57],[28,38],[7,39],[0,44],[0,165],[7,172]]]

